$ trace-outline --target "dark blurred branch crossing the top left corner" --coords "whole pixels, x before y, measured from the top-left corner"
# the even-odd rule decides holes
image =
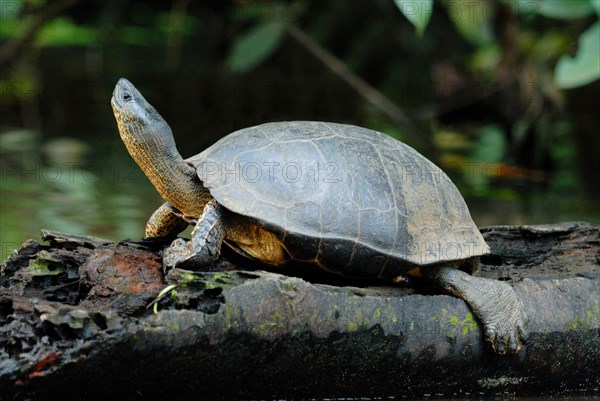
[[[29,18],[28,26],[23,33],[6,43],[0,48],[0,68],[14,62],[21,51],[35,38],[36,33],[44,26],[44,23],[69,7],[75,5],[79,0],[56,0],[46,3],[36,10],[35,15]]]

